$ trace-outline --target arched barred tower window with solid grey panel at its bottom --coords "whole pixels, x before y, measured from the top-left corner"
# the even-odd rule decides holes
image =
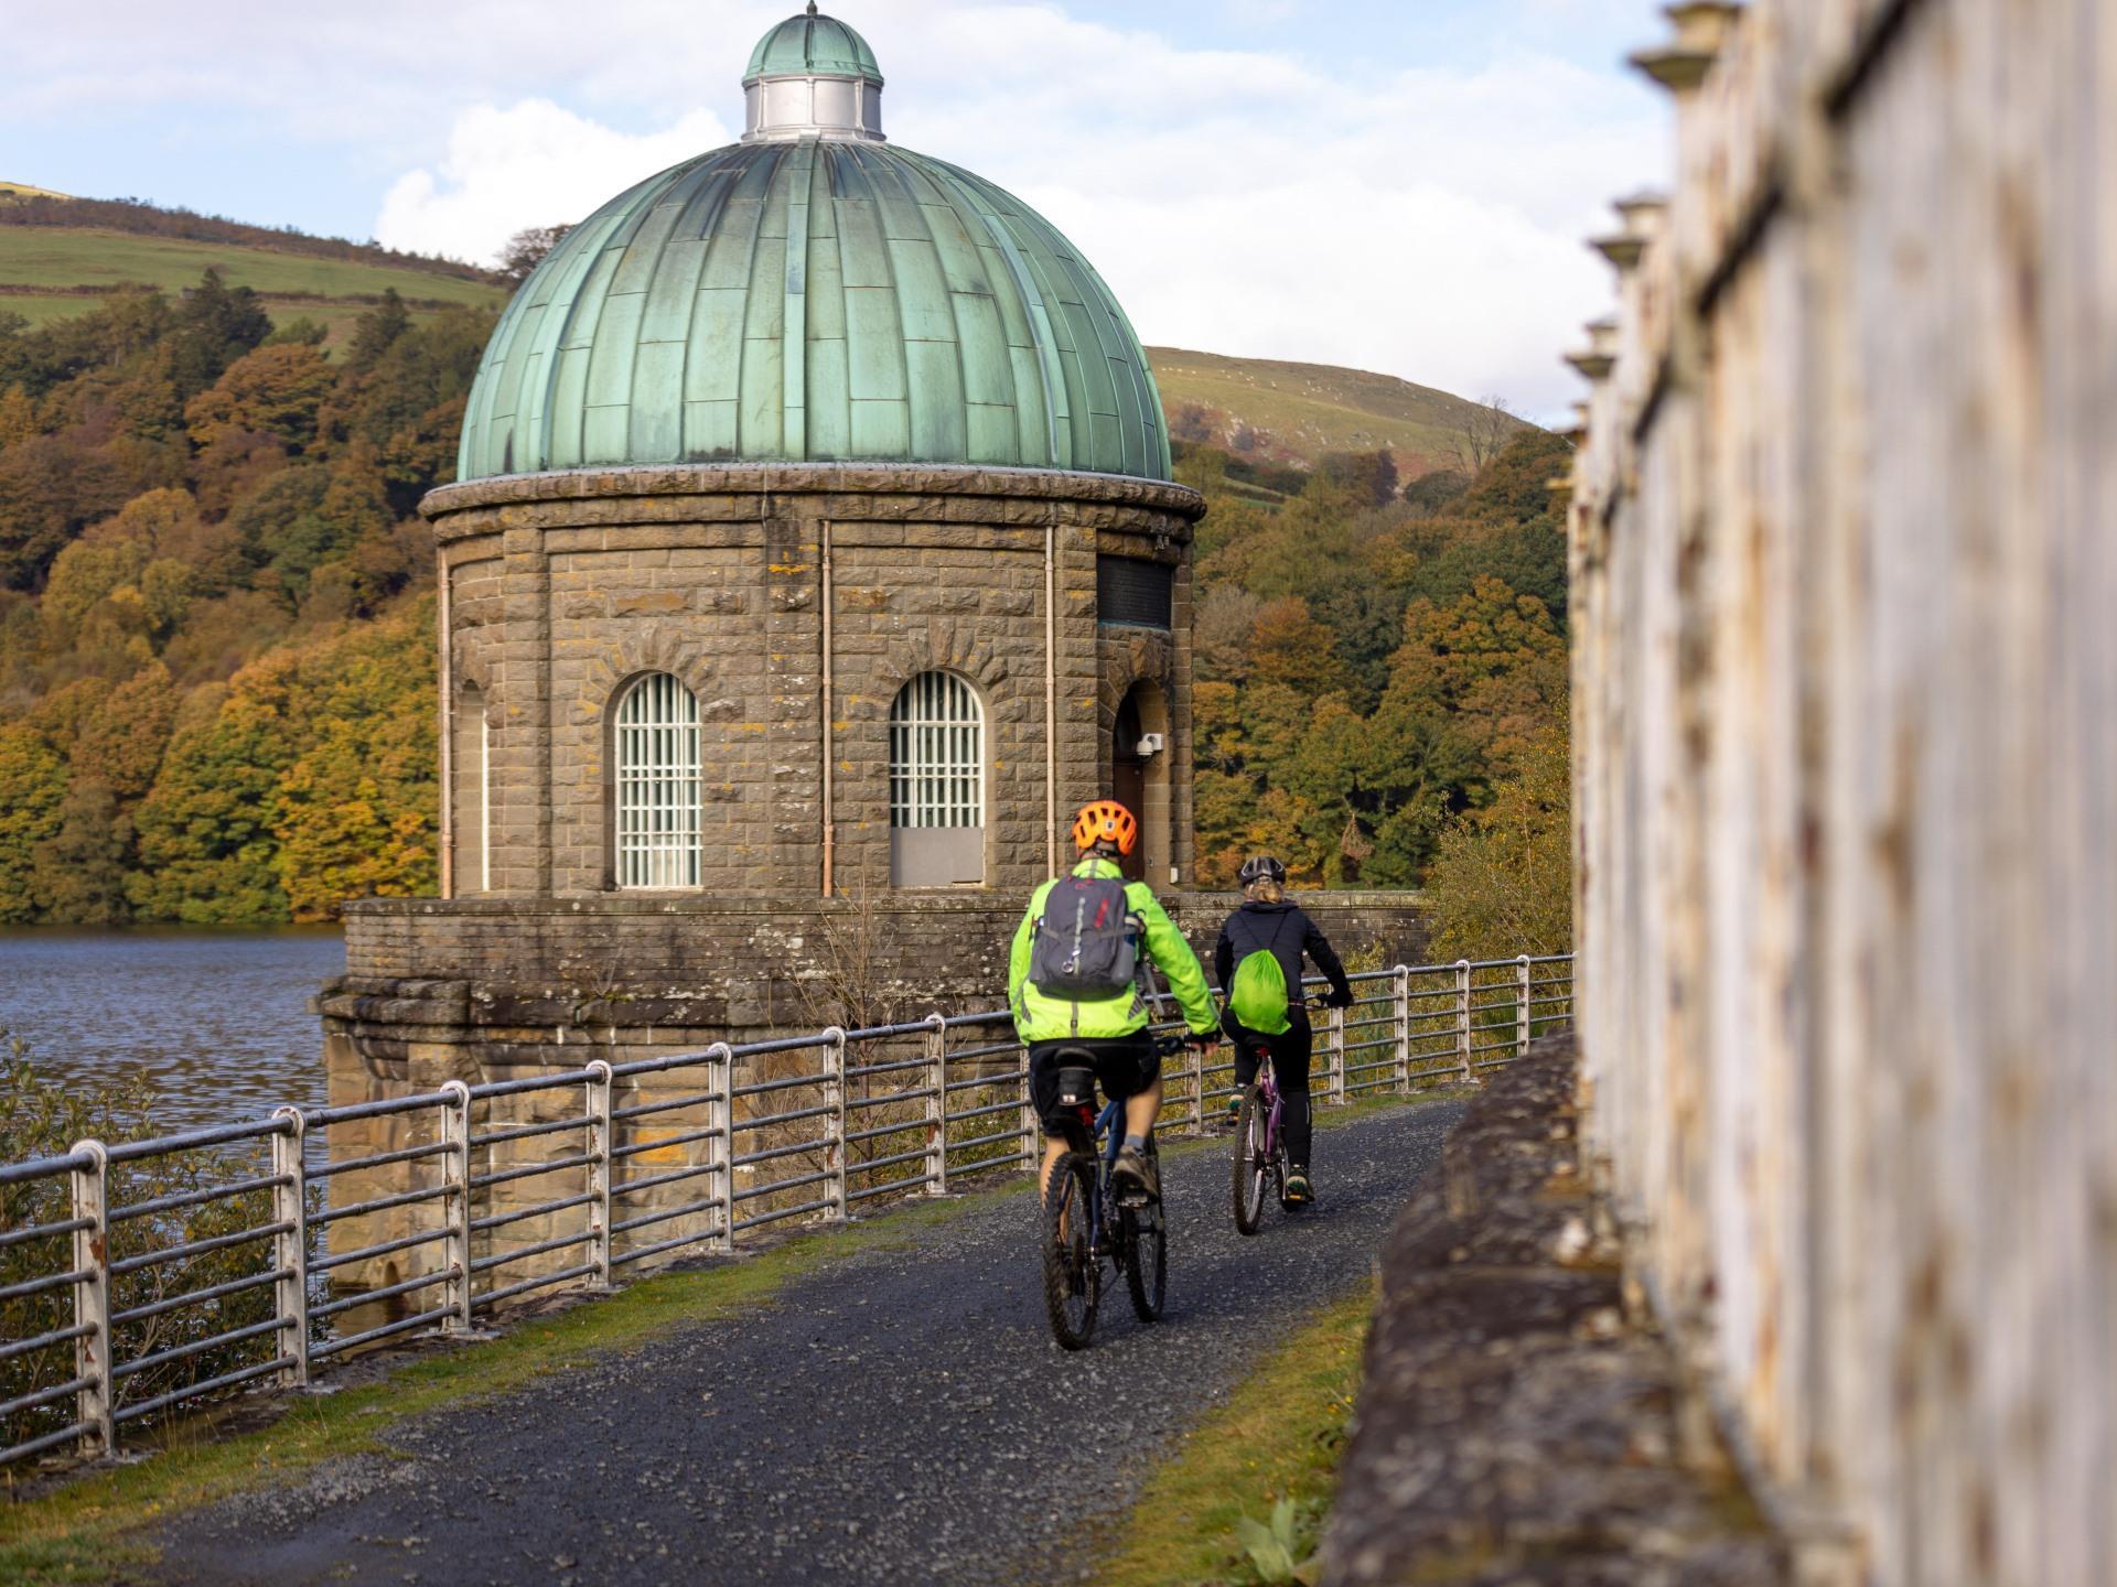
[[[984,880],[984,707],[955,673],[921,673],[889,707],[889,880]]]

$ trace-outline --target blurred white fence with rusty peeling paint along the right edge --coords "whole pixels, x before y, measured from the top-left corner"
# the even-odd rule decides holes
[[[2117,25],[1670,17],[1575,355],[1590,1155],[1804,1579],[2100,1587]]]

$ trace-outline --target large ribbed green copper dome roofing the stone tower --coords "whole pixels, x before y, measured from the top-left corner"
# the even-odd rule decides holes
[[[567,233],[485,349],[457,476],[701,461],[1171,476],[1094,267],[991,182],[851,133],[701,154]]]

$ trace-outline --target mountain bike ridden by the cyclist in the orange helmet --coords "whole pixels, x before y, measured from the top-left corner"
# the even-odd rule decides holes
[[[1162,1037],[1162,1058],[1183,1052],[1183,1037]],[[1124,1145],[1124,1105],[1094,1111],[1094,1069],[1086,1054],[1058,1064],[1058,1105],[1067,1109],[1067,1153],[1044,1189],[1044,1314],[1067,1350],[1086,1350],[1103,1301],[1105,1270],[1122,1267],[1141,1322],[1162,1314],[1169,1293],[1169,1223],[1162,1204],[1139,1187],[1111,1185]],[[1156,1155],[1147,1136],[1147,1155]]]

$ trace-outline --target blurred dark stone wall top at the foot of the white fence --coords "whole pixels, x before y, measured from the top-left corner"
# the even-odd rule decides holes
[[[1397,1219],[1325,1587],[1783,1587],[1725,1466],[1685,1458],[1666,1339],[1626,1316],[1581,1179],[1573,1037],[1471,1102]]]

